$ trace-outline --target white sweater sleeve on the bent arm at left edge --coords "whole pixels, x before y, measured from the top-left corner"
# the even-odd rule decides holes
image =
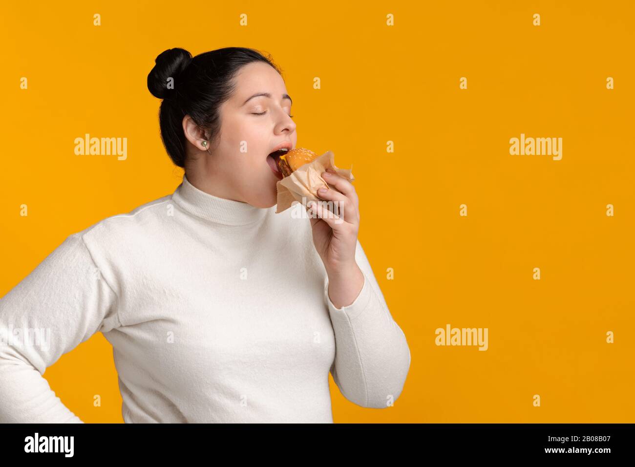
[[[43,374],[95,332],[121,326],[116,306],[81,233],[0,299],[1,423],[83,423]]]

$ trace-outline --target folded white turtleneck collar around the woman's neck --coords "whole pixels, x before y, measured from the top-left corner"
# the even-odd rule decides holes
[[[267,211],[271,210],[257,208],[243,201],[218,198],[201,191],[187,180],[185,174],[183,181],[172,194],[172,200],[190,214],[227,226],[252,224],[264,219]]]

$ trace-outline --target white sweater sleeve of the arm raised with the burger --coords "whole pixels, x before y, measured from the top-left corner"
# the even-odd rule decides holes
[[[364,285],[352,304],[335,308],[328,296],[328,278],[324,285],[335,332],[331,374],[345,398],[361,407],[382,409],[401,395],[410,369],[410,348],[392,319],[359,240],[355,259]]]

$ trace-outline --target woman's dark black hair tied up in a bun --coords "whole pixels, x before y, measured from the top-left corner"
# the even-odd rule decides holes
[[[185,115],[215,140],[220,132],[220,105],[234,90],[236,74],[246,64],[265,62],[277,72],[271,55],[244,47],[225,47],[201,53],[192,58],[184,49],[165,50],[154,60],[148,74],[148,89],[154,97],[163,99],[159,107],[161,139],[173,163],[185,166]]]

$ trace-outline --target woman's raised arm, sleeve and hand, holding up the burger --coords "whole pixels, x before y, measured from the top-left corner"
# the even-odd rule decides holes
[[[326,269],[324,301],[335,331],[331,373],[345,398],[383,409],[403,390],[410,349],[357,238],[359,197],[352,179],[331,168],[321,176],[329,188],[319,189],[318,196],[326,202],[307,203],[307,212]]]

